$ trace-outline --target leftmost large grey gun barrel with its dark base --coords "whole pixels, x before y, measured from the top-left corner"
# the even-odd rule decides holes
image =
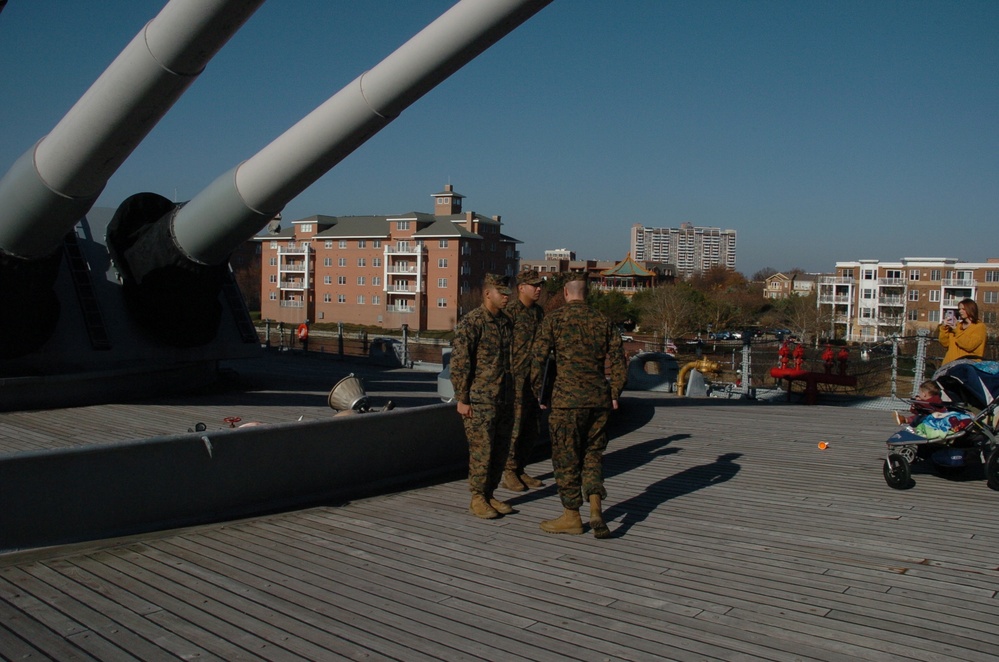
[[[0,356],[23,355],[48,338],[59,317],[52,286],[66,233],[262,3],[169,2],[0,179]],[[14,311],[19,324],[8,319]]]

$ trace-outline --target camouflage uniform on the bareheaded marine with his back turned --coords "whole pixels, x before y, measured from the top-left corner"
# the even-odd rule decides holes
[[[542,321],[532,349],[535,393],[541,391],[542,370],[551,350],[556,365],[548,419],[552,466],[562,506],[578,510],[591,494],[607,496],[601,466],[607,418],[611,400],[617,400],[624,388],[627,369],[621,337],[602,313],[583,301],[570,301]]]

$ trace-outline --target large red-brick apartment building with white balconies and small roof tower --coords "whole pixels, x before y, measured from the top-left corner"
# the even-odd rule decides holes
[[[434,213],[310,216],[254,238],[263,319],[448,330],[479,304],[486,273],[513,276],[520,242],[499,216],[462,212],[450,184]]]

